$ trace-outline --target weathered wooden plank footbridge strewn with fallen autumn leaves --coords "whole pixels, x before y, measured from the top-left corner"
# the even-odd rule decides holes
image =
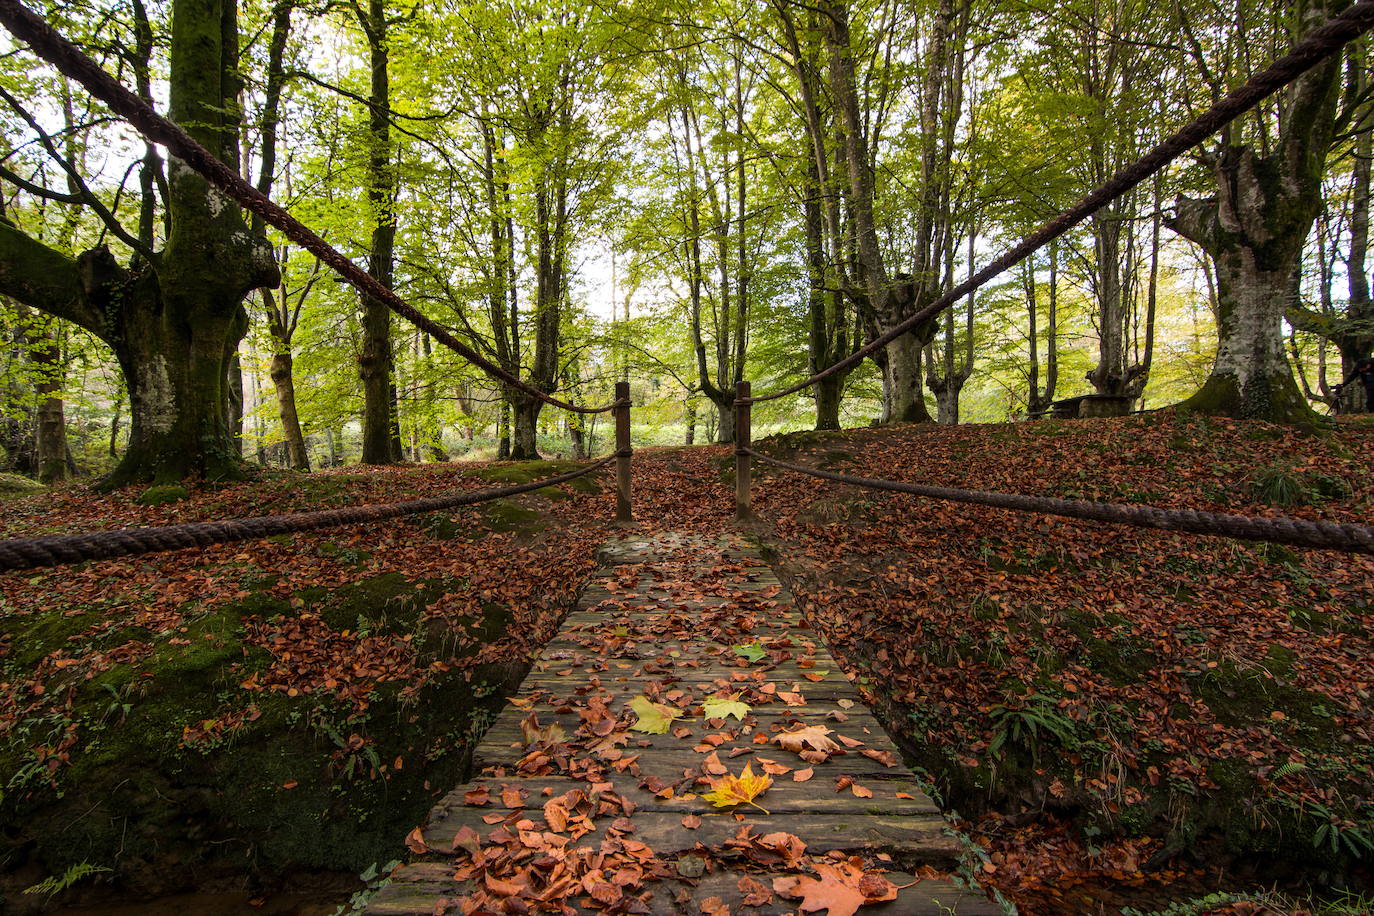
[[[959,842],[756,549],[665,534],[602,560],[370,916],[1002,912],[943,876]],[[712,696],[745,718],[705,718]],[[646,733],[632,702],[680,717]],[[834,747],[775,740],[804,726]],[[757,806],[702,798],[746,764],[772,779]]]

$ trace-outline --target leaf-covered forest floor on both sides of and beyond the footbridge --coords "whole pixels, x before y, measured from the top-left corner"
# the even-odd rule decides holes
[[[1374,516],[1369,426],[1161,412],[761,448],[936,485]],[[732,525],[731,464],[717,446],[638,452],[639,525]],[[70,486],[5,501],[0,536],[390,501],[555,468],[267,472],[158,507]],[[591,571],[613,530],[609,482],[0,577],[0,904],[41,900],[18,891],[45,878],[80,879],[80,901],[110,876],[146,894],[239,890],[397,858]],[[763,468],[754,508],[752,533],[802,612],[982,847],[969,868],[1022,913],[1311,912],[1275,884],[1325,891],[1325,912],[1371,909],[1374,558]]]

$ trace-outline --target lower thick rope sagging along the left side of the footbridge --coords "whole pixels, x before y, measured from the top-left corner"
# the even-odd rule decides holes
[[[616,460],[611,455],[595,464],[577,471],[559,474],[543,481],[517,483],[513,486],[488,488],[453,496],[436,496],[423,500],[407,500],[383,505],[354,505],[322,512],[297,512],[291,515],[267,515],[262,518],[227,519],[224,522],[192,522],[165,527],[131,527],[117,531],[89,531],[65,537],[23,537],[0,541],[0,570],[26,570],[36,566],[66,566],[85,560],[106,560],[115,556],[136,553],[157,553],[159,551],[180,551],[190,547],[210,547],[231,541],[247,541],[273,534],[313,531],[338,525],[359,522],[381,522],[403,515],[437,512],[459,505],[488,503],[507,496],[529,493],[545,486],[566,483],[585,474],[606,467]]]

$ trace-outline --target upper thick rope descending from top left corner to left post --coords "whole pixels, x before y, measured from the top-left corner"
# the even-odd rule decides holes
[[[245,210],[262,217],[264,221],[280,229],[291,242],[295,242],[328,265],[359,293],[386,304],[386,308],[392,309],[392,312],[396,312],[469,363],[480,367],[492,378],[544,404],[561,407],[574,413],[605,413],[616,407],[614,404],[598,408],[577,407],[534,387],[518,375],[507,372],[482,357],[441,324],[405,304],[389,287],[344,257],[300,220],[272,203],[267,195],[239,177],[234,169],[214,158],[209,150],[192,140],[181,128],[154,111],[153,106],[147,102],[125,89],[118,80],[102,70],[100,65],[84,55],[74,44],[63,38],[43,18],[18,0],[0,0],[0,22],[4,23],[14,37],[27,44],[34,54],[85,87],[87,92],[110,106],[111,111],[125,118],[144,137],[165,146],[172,155],[199,172],[206,181],[224,191]]]

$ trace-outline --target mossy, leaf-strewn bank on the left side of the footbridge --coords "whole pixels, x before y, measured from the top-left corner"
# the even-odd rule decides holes
[[[561,470],[283,472],[176,501],[69,488],[5,520],[16,534],[249,515]],[[82,864],[107,871],[69,901],[397,858],[592,567],[600,486],[4,577],[0,911],[37,906],[19,891]]]

